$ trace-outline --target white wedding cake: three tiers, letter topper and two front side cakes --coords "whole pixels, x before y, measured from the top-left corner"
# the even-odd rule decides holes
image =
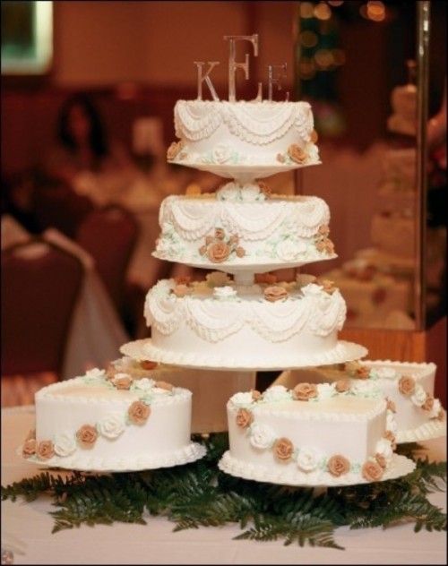
[[[256,54],[257,36],[229,39],[249,39]],[[261,180],[319,163],[311,107],[272,101],[271,81],[269,99],[259,92],[254,101],[237,101],[234,55],[228,101],[220,101],[196,65],[198,99],[177,102],[179,141],[168,160],[226,181],[214,194],[163,202],[155,255],[210,272],[152,287],[144,306],[151,338],[123,345],[125,356],[108,371],[39,391],[36,431],[20,449],[32,461],[110,471],[184,464],[201,458],[203,448],[190,441],[192,395],[171,384],[176,368],[179,376],[208,370],[214,395],[217,372],[356,364],[366,356],[366,348],[338,339],[346,304],[332,281],[305,274],[281,281],[272,273],[335,257],[326,203],[271,194]],[[202,100],[206,78],[212,101]],[[209,404],[202,399],[203,410]],[[297,380],[263,393],[236,391],[227,411],[229,450],[219,466],[234,476],[352,485],[415,466],[394,452],[394,406],[370,381]]]

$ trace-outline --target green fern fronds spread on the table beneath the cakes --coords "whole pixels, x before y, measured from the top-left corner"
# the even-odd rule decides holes
[[[50,470],[2,486],[2,500],[24,497],[31,502],[49,494],[57,507],[51,512],[53,533],[116,521],[144,525],[148,516],[163,516],[175,524],[174,531],[237,523],[241,534],[236,539],[342,549],[335,541],[340,526],[386,528],[413,522],[416,532],[446,530],[446,515],[426,499],[445,489],[446,462],[418,459],[417,444],[400,446],[417,464],[408,476],[314,489],[224,474],[217,463],[228,450],[227,433],[194,436],[194,442],[205,444],[206,455],[185,466],[103,475]]]

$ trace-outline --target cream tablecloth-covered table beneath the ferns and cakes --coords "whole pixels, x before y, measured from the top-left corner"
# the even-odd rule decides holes
[[[33,407],[2,410],[2,485],[35,476],[39,467],[15,449],[33,425]],[[446,439],[426,442],[431,458],[446,459]],[[446,493],[431,494],[446,510]],[[282,541],[233,540],[234,524],[173,532],[167,519],[147,517],[147,525],[115,523],[51,534],[55,510],[49,500],[2,502],[2,546],[15,547],[16,564],[446,564],[446,533],[413,532],[413,525],[350,531],[336,542],[345,551],[285,546]]]

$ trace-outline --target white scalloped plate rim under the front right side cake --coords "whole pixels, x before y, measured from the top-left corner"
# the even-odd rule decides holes
[[[289,467],[285,469],[273,469],[271,467],[255,466],[254,464],[247,464],[233,458],[229,450],[224,453],[218,463],[218,467],[222,472],[230,476],[242,477],[244,479],[251,479],[255,482],[265,482],[268,484],[279,485],[294,485],[294,486],[313,486],[313,487],[336,487],[343,485],[358,485],[369,484],[360,474],[348,473],[344,476],[335,477],[329,472],[317,470],[314,472],[301,472],[297,467]],[[416,463],[401,456],[393,454],[392,462],[380,482],[389,479],[396,479],[397,477],[407,476],[414,471]]]

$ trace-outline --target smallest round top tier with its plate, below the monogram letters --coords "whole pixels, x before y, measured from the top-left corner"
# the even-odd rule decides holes
[[[168,161],[250,180],[320,163],[307,102],[178,100]]]

